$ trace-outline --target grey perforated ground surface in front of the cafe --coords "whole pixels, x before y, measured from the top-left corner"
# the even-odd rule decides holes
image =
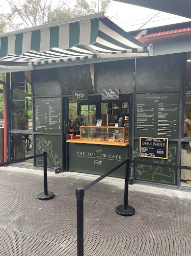
[[[49,172],[56,196],[39,201],[42,171],[0,168],[0,256],[77,256],[75,189],[94,179]],[[191,193],[134,184],[128,218],[115,213],[123,187],[107,178],[85,192],[85,256],[189,256]]]

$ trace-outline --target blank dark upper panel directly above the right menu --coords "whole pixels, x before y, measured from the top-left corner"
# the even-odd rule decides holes
[[[137,59],[136,92],[180,89],[182,60],[182,54]]]

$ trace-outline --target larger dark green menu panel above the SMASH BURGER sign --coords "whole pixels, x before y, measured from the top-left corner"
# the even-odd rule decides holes
[[[135,137],[178,138],[179,93],[136,95]]]

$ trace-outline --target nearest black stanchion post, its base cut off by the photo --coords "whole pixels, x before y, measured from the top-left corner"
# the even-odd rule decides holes
[[[77,250],[78,256],[83,256],[83,187],[77,187]]]

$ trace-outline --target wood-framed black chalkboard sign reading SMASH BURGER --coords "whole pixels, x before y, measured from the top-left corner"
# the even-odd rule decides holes
[[[168,139],[140,137],[139,156],[149,158],[168,158]]]

